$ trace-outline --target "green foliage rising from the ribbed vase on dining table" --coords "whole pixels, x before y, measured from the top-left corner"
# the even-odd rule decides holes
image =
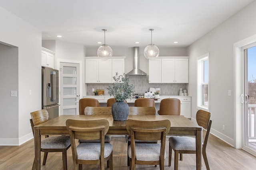
[[[110,94],[110,96],[114,96],[116,102],[121,102],[130,98],[134,92],[134,86],[133,84],[129,84],[130,80],[128,75],[118,75],[118,72],[116,72],[116,76],[114,76],[113,79],[113,85],[107,88],[108,94]]]

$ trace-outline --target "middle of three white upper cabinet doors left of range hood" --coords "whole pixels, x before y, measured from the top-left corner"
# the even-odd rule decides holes
[[[112,83],[112,60],[99,59],[99,83]]]

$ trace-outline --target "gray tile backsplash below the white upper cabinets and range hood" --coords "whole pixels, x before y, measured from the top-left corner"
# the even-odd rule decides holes
[[[148,83],[148,76],[130,75],[130,83],[134,85],[134,93],[145,93],[149,88],[161,88],[161,95],[176,96],[179,95],[180,88],[187,89],[186,83]],[[87,85],[88,96],[94,95],[92,88],[104,89],[104,94],[108,94],[107,88],[112,84],[89,83]],[[189,94],[189,92],[188,92]]]

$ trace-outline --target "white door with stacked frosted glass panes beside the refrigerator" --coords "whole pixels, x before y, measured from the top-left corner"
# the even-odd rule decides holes
[[[79,114],[79,72],[78,63],[60,63],[60,115]]]

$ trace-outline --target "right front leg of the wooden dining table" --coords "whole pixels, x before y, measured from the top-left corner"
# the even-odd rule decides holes
[[[196,169],[202,169],[202,130],[196,131]]]

